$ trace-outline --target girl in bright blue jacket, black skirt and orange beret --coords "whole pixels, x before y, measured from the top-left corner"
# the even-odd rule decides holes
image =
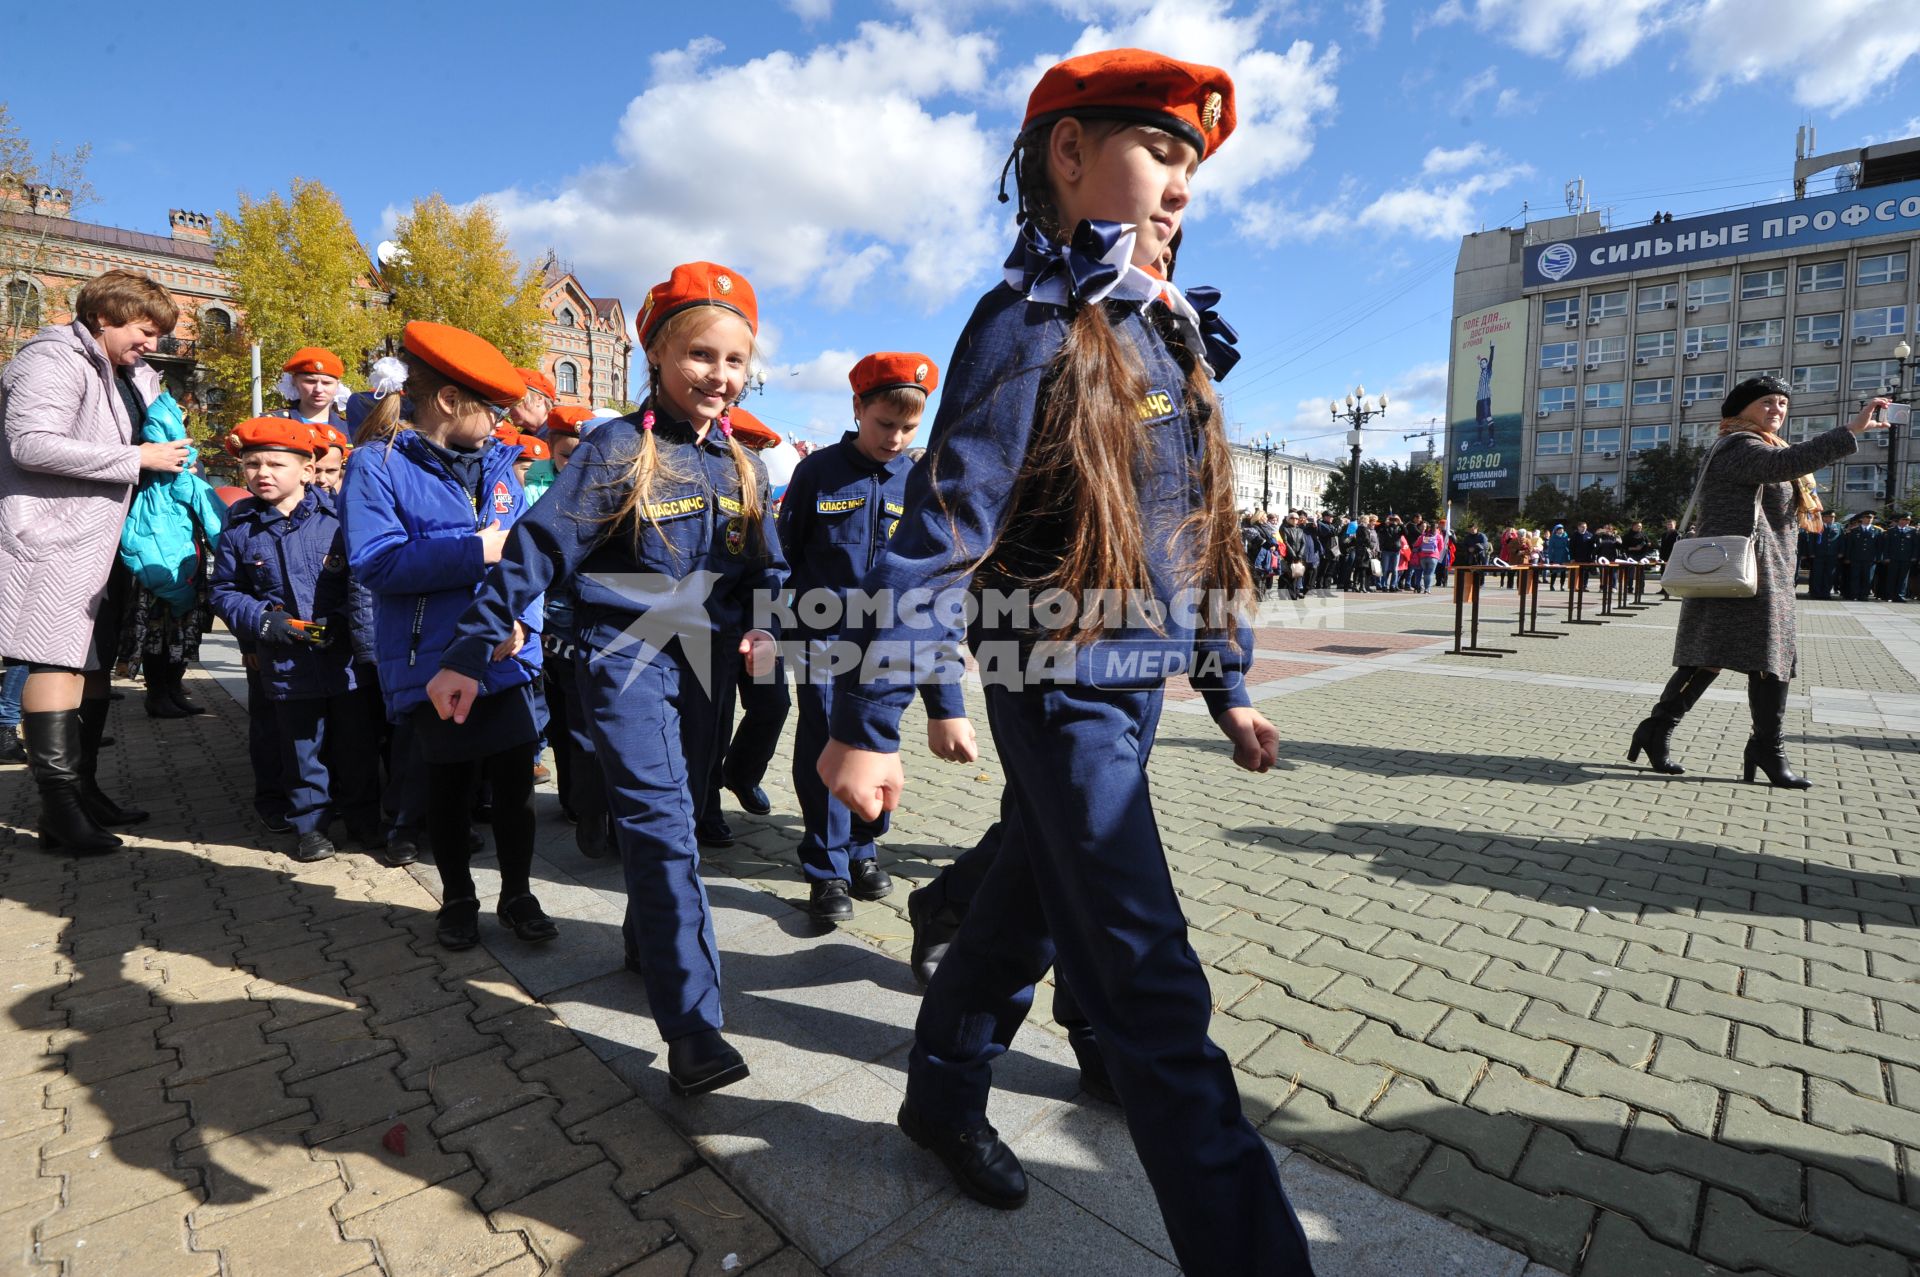
[[[513,463],[520,449],[490,438],[526,394],[526,382],[492,344],[463,328],[415,321],[403,336],[413,428],[399,430],[390,394],[361,424],[342,490],[348,565],[372,591],[374,655],[388,718],[409,728],[396,749],[417,751],[426,782],[426,831],[440,870],[440,943],[480,943],[480,893],[468,860],[472,805],[492,785],[501,924],[524,941],[559,929],[532,891],[534,749],[540,716],[540,601],[501,636],[486,686],[459,724],[442,722],[426,680],[453,639],[453,622],[499,561],[507,528],[526,501]],[[526,641],[534,634],[534,641]],[[411,735],[411,741],[407,739]]]

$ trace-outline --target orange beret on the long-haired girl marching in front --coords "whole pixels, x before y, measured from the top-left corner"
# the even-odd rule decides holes
[[[1123,119],[1185,138],[1206,159],[1233,133],[1233,77],[1144,48],[1081,54],[1050,67],[1027,98],[1020,131],[1068,115]]]

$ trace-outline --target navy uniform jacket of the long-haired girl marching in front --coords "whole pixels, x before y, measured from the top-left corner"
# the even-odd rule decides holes
[[[1158,632],[1150,624],[1129,624],[1144,620],[1140,616],[1117,616],[1098,641],[1077,645],[1064,657],[1066,668],[1048,678],[1144,689],[1162,686],[1169,672],[1200,668],[1196,659],[1204,657],[1212,668],[1194,674],[1192,684],[1217,716],[1248,705],[1240,676],[1252,653],[1252,632],[1236,624],[1236,643],[1202,636],[1192,611],[1175,607],[1175,595],[1190,586],[1183,563],[1192,555],[1181,524],[1200,505],[1202,436],[1187,413],[1187,373],[1146,305],[1112,300],[1100,305],[1144,373],[1146,394],[1135,409],[1140,430],[1135,480],[1148,593],[1165,616]],[[1018,590],[1021,580],[1058,566],[1073,536],[1066,515],[1071,494],[1029,492],[1021,509],[1012,497],[1069,319],[1066,305],[1033,300],[1008,284],[998,284],[973,307],[947,365],[927,457],[906,482],[906,513],[862,582],[862,590],[885,591],[899,607],[881,622],[862,618],[843,632],[866,655],[839,676],[833,739],[897,751],[900,711],[912,699],[912,684],[925,682],[929,663],[948,666],[950,657],[937,653],[941,645],[956,651],[962,641],[964,613],[950,607],[954,593]],[[991,555],[970,578],[968,568],[989,547]],[[920,597],[948,605],[914,607]],[[1029,620],[1041,616],[1035,613]],[[981,616],[968,638],[977,643],[983,678],[991,678],[993,647],[1018,647],[1027,657],[1048,628],[1023,626],[1012,616]]]

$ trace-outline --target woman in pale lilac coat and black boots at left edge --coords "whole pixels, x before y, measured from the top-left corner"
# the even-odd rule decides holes
[[[140,472],[175,472],[190,447],[132,442],[159,394],[142,355],[180,315],[167,290],[108,271],[73,315],[0,371],[0,657],[31,670],[21,728],[40,845],[98,853],[119,845],[104,826],[146,818],[94,782],[119,641],[108,576]]]

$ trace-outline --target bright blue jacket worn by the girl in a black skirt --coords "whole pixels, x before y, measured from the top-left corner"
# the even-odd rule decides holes
[[[468,490],[413,430],[353,449],[340,492],[348,563],[372,591],[374,655],[390,716],[426,701],[426,682],[440,672],[455,622],[488,578],[476,534],[495,520],[513,526],[526,513],[513,474],[518,455],[518,446],[488,440],[478,486]],[[516,657],[486,666],[482,695],[532,682],[540,670],[538,591],[518,618],[528,641]]]

